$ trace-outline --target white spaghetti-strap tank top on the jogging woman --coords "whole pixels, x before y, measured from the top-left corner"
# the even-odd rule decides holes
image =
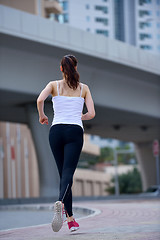
[[[82,127],[83,123],[81,120],[84,98],[82,96],[83,83],[81,86],[81,93],[79,97],[69,97],[59,95],[59,86],[57,82],[57,92],[58,95],[52,97],[54,118],[52,125],[59,123],[77,124]],[[52,126],[51,125],[51,126]]]

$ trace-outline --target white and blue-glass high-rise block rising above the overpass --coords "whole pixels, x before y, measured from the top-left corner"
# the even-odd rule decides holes
[[[160,0],[58,0],[49,18],[160,54]]]

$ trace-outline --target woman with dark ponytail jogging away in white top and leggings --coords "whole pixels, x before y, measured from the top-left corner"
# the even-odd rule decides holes
[[[39,122],[48,124],[43,107],[45,99],[51,94],[54,118],[49,132],[49,144],[56,161],[60,176],[59,199],[54,204],[52,229],[58,232],[63,225],[63,213],[66,213],[70,231],[79,228],[72,212],[72,183],[83,146],[84,128],[82,120],[95,116],[93,99],[86,84],[79,81],[77,59],[73,55],[62,58],[60,70],[62,80],[50,81],[37,98]],[[88,112],[83,114],[83,105]],[[65,210],[64,210],[65,209]]]

